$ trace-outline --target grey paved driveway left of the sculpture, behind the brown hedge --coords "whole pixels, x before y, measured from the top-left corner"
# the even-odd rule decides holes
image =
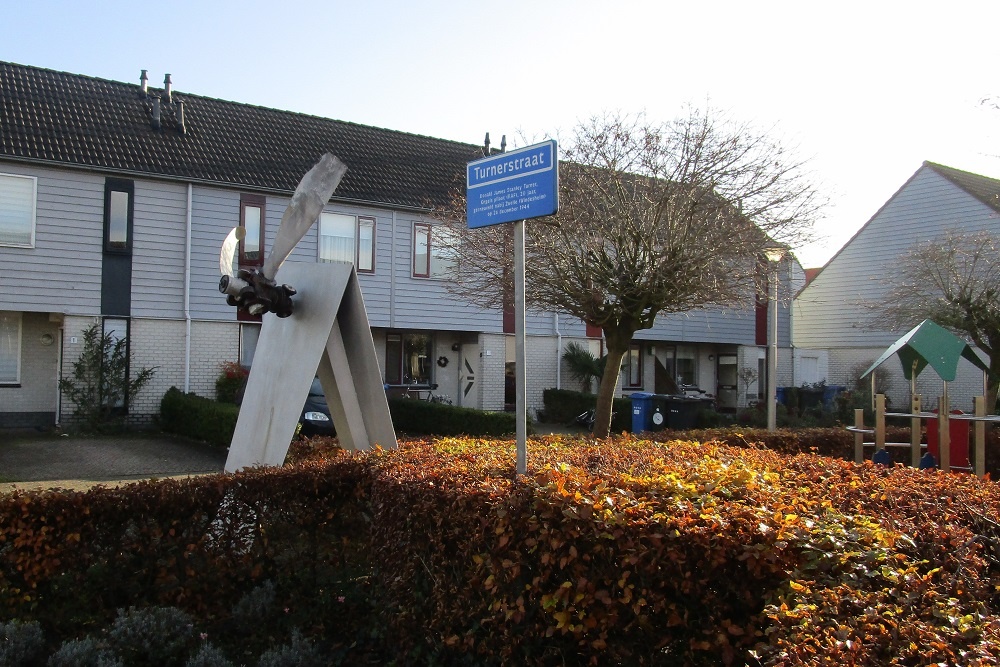
[[[0,492],[222,472],[226,452],[165,434],[57,436],[0,430]]]

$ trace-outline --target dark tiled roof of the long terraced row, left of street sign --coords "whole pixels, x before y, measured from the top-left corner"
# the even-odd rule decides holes
[[[482,155],[470,144],[176,89],[154,130],[152,99],[161,94],[0,62],[0,157],[291,192],[329,151],[348,166],[335,199],[423,208],[445,202],[466,163]]]

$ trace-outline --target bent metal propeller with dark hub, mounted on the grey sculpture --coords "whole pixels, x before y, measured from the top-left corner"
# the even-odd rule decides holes
[[[222,274],[219,291],[226,295],[226,303],[251,315],[274,313],[278,317],[288,317],[292,314],[295,288],[276,285],[274,276],[295,245],[319,218],[346,172],[347,166],[330,153],[326,153],[306,172],[295,188],[285,214],[281,216],[271,254],[261,268],[240,269],[233,273],[236,245],[246,235],[246,229],[237,227],[229,232],[219,254],[219,271]]]

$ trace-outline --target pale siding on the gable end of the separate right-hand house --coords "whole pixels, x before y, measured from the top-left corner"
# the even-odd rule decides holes
[[[863,307],[893,280],[893,266],[914,243],[952,229],[997,229],[996,212],[933,169],[922,167],[878,211],[794,302],[795,345],[886,347],[903,331],[885,331]]]

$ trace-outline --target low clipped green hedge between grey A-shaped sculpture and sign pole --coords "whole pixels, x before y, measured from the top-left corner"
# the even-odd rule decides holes
[[[390,398],[395,429],[412,435],[509,435],[513,412],[486,412],[412,398]]]

